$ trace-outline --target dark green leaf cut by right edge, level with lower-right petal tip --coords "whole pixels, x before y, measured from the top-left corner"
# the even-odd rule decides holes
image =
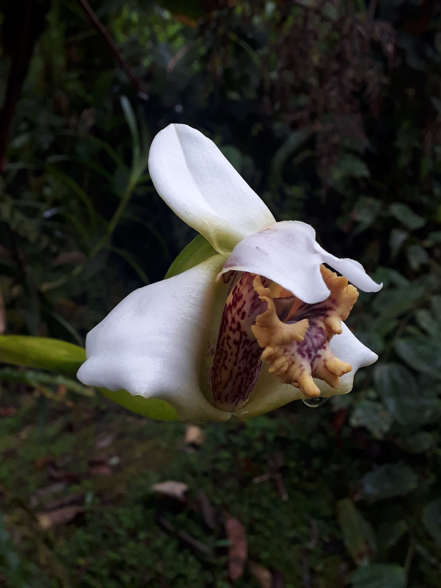
[[[400,339],[395,343],[399,357],[417,372],[441,379],[441,353],[437,339]]]

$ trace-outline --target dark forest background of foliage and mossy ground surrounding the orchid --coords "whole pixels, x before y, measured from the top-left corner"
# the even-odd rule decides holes
[[[439,586],[438,3],[3,0],[0,21],[0,332],[83,346],[163,278],[195,236],[146,169],[171,122],[384,283],[349,320],[379,362],[318,410],[195,429],[0,365],[0,585]]]

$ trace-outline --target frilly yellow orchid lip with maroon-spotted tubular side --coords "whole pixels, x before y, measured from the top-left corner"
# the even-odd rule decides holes
[[[352,365],[332,353],[329,342],[342,333],[342,320],[348,318],[358,292],[324,266],[320,272],[330,292],[328,299],[308,305],[287,292],[282,302],[288,300],[288,307],[278,305],[284,320],[262,278],[242,274],[226,300],[219,329],[212,377],[216,407],[234,410],[245,406],[261,362],[268,362],[270,374],[299,388],[305,397],[320,396],[314,377],[336,388],[340,376],[352,371]],[[275,292],[278,289],[276,285]]]

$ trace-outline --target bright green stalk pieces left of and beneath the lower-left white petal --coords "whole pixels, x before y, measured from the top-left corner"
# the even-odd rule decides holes
[[[85,359],[83,348],[66,341],[25,335],[0,336],[0,362],[76,374]],[[164,400],[132,396],[125,390],[99,390],[113,402],[138,415],[157,420],[179,420],[176,410]]]

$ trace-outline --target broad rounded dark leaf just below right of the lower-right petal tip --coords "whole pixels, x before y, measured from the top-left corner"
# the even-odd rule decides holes
[[[439,401],[423,397],[413,374],[400,363],[376,366],[374,377],[378,395],[400,425],[423,425],[439,415]]]

